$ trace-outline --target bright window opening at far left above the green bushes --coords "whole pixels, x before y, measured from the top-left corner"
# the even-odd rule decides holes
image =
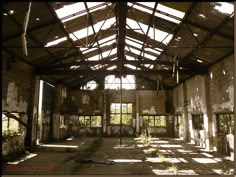
[[[19,118],[18,113],[11,114]],[[5,116],[5,114],[2,114],[2,132],[7,129],[19,131],[19,122],[13,118]]]

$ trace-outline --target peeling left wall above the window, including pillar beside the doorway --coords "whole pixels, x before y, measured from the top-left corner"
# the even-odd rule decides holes
[[[36,77],[32,67],[2,52],[2,111],[24,112],[28,117],[26,142],[36,141],[37,107],[35,105]],[[37,95],[37,94],[36,94]]]

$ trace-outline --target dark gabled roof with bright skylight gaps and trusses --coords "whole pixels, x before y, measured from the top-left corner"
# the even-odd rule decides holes
[[[69,88],[134,75],[168,89],[233,54],[233,17],[233,2],[11,2],[3,50]]]

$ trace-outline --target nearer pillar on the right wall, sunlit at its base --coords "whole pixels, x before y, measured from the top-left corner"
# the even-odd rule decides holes
[[[204,93],[205,93],[205,101],[206,101],[206,112],[204,113],[206,115],[206,122],[207,124],[204,125],[204,129],[206,129],[206,149],[207,150],[213,150],[214,144],[213,144],[213,115],[211,110],[211,98],[210,98],[210,88],[209,88],[209,76],[204,76]]]

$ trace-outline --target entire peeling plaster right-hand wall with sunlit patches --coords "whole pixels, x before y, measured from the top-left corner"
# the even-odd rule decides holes
[[[204,77],[207,77],[209,82],[204,82]],[[206,76],[195,76],[187,81],[187,102],[183,100],[184,90],[182,84],[177,86],[173,90],[173,104],[175,113],[178,113],[184,104],[188,107],[188,121],[190,137],[192,142],[197,143],[199,139],[196,134],[204,132],[202,135],[204,141],[208,140],[208,126],[212,126],[213,135],[213,146],[214,150],[222,151],[219,148],[224,146],[224,138],[217,138],[217,123],[216,113],[229,113],[233,112],[234,107],[234,88],[233,88],[233,55],[222,60],[221,62],[213,65],[209,68],[208,75]],[[208,122],[207,107],[206,107],[206,92],[210,95],[210,109],[212,113],[212,122]],[[192,116],[191,114],[203,114],[204,119],[204,130],[196,132],[192,127]],[[208,123],[210,123],[208,125]]]

